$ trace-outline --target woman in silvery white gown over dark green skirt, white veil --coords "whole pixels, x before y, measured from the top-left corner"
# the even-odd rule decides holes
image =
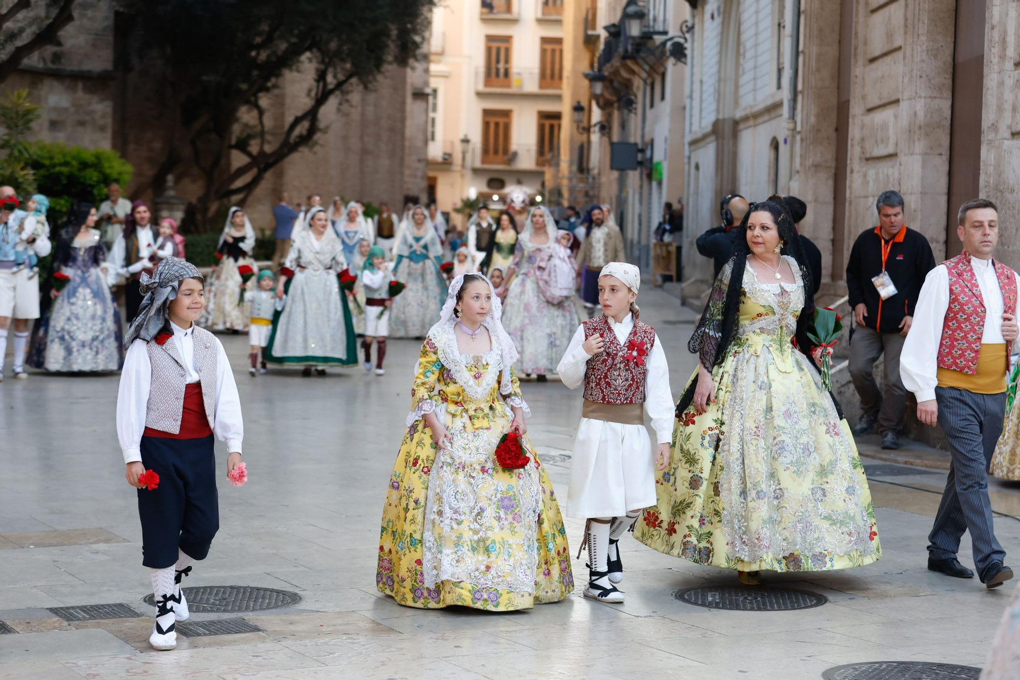
[[[339,275],[347,269],[340,239],[325,208],[308,211],[309,228],[291,243],[280,270],[276,297],[287,301],[273,320],[266,346],[268,363],[303,366],[302,375],[325,375],[326,366],[358,362],[357,338]]]

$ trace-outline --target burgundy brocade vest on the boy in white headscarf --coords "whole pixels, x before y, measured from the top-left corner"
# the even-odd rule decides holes
[[[655,344],[655,329],[635,321],[624,346],[605,315],[590,319],[581,326],[585,340],[599,334],[605,340],[603,351],[588,359],[584,398],[598,403],[645,403],[648,355]]]

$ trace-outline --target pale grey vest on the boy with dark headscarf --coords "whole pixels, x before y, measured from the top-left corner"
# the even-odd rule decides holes
[[[219,355],[216,338],[208,331],[195,327],[195,370],[202,383],[202,402],[209,427],[216,423],[216,357]],[[152,363],[152,386],[146,405],[145,427],[177,434],[185,404],[185,384],[188,371],[177,351],[177,344],[170,338],[163,344],[150,342],[146,349]]]

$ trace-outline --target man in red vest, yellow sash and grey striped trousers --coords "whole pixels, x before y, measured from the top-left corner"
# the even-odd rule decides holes
[[[987,588],[1013,578],[996,539],[987,470],[1003,431],[1006,374],[1017,339],[1018,278],[992,258],[999,210],[985,199],[960,207],[963,252],[928,273],[900,359],[917,418],[941,425],[952,464],[942,501],[928,535],[928,569],[948,576],[974,574],[957,561],[970,530],[974,566]]]

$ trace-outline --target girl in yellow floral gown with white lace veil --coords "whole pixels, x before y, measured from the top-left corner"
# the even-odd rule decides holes
[[[496,462],[500,439],[526,433],[530,415],[500,314],[489,280],[462,275],[421,347],[375,575],[401,604],[509,612],[573,590],[566,529],[530,442],[524,468]]]

